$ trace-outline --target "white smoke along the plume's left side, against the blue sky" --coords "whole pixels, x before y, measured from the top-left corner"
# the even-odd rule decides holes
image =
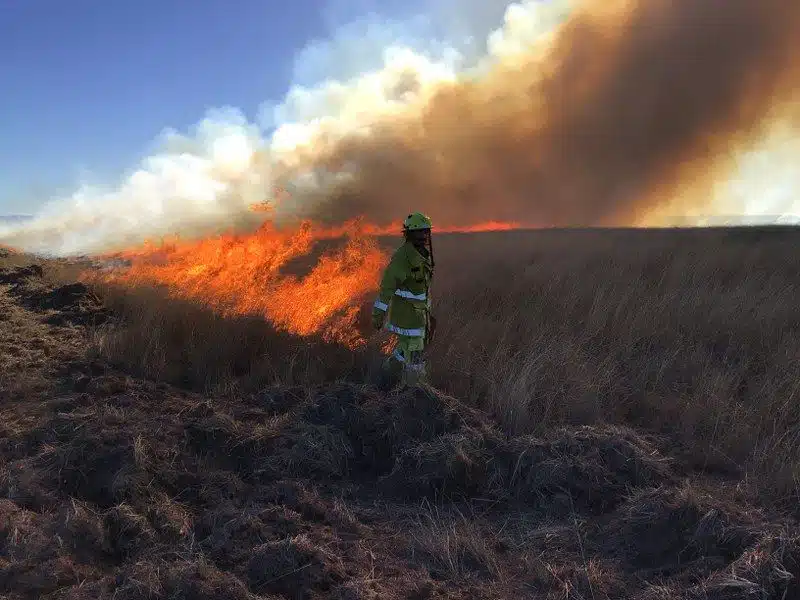
[[[277,218],[295,214],[343,176],[309,171],[309,158],[482,68],[487,55],[479,50],[499,57],[535,41],[566,16],[568,4],[504,6],[505,21],[482,31],[465,10],[476,2],[457,9],[460,27],[437,22],[455,14],[446,0],[433,16],[357,20],[300,54],[296,83],[278,106],[262,107],[253,121],[234,108],[213,110],[188,135],[166,131],[160,151],[118,185],[83,186],[51,199],[30,222],[0,226],[0,240],[31,252],[89,254],[176,233],[193,237],[255,225],[263,219],[250,210],[257,203],[271,203]],[[476,32],[483,44],[476,45]]]

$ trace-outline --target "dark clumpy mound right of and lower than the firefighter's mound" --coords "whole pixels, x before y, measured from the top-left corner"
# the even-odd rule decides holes
[[[403,451],[384,485],[409,500],[488,496],[550,513],[602,514],[630,489],[669,480],[667,460],[627,429],[584,427],[508,440],[485,428]]]

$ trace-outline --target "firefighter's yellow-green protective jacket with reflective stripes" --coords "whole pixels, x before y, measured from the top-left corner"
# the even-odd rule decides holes
[[[411,242],[405,242],[383,272],[373,313],[388,313],[386,329],[393,333],[425,337],[432,279],[430,258],[420,254]]]

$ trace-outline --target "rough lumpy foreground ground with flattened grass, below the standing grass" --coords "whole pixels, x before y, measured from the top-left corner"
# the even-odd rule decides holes
[[[87,353],[109,317],[0,271],[3,597],[800,597],[795,524],[667,439],[508,437],[426,389],[203,397]]]

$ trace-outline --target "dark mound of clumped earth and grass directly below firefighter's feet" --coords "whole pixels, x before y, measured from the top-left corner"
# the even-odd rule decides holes
[[[374,479],[415,444],[479,422],[474,411],[423,388],[387,396],[342,384],[302,398],[272,390],[250,402],[266,408],[240,410],[240,420],[205,403],[186,415],[189,443],[248,480]],[[258,416],[264,420],[253,421]]]

